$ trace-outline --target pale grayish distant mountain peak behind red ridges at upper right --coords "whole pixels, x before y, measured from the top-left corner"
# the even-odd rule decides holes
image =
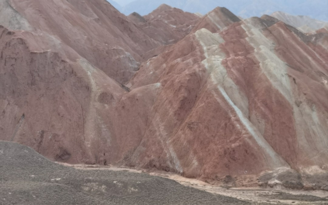
[[[293,16],[281,11],[276,11],[272,13],[271,16],[283,21],[286,24],[296,27],[303,32],[311,32],[328,27],[328,22],[318,21],[309,16]]]

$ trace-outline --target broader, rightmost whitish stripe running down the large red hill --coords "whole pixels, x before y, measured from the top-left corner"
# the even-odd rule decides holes
[[[307,103],[302,103],[297,107],[295,101],[305,97],[302,97],[302,93],[298,93],[298,95],[293,93],[292,85],[287,76],[287,65],[275,54],[275,45],[273,42],[267,39],[258,29],[253,27],[250,21],[251,19],[244,20],[242,28],[248,35],[246,40],[255,48],[254,54],[260,62],[261,70],[269,79],[272,86],[276,88],[293,107],[298,151],[303,153],[303,157],[308,157],[309,159],[319,156],[320,152],[318,150],[325,150],[326,153],[324,154],[328,156],[328,129],[320,123],[316,106],[313,104],[310,107]],[[302,51],[301,48],[300,51]],[[315,136],[312,137],[311,142],[308,141],[309,136]]]

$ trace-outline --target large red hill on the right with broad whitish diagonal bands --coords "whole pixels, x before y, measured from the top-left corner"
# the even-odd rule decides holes
[[[203,180],[280,170],[271,186],[297,176],[291,169],[327,170],[327,55],[278,20],[220,29],[187,36],[130,81],[132,88],[160,83],[161,92],[129,165]],[[284,185],[303,186],[293,183]]]

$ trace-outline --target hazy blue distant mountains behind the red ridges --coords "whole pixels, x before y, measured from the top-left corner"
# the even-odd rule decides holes
[[[122,0],[120,2],[127,2],[127,0]],[[261,16],[275,11],[283,11],[292,15],[306,15],[318,20],[328,21],[327,0],[135,0],[119,10],[126,15],[132,12],[146,15],[161,4],[167,4],[184,11],[193,13],[199,12],[202,14],[219,6],[226,7],[243,18]]]

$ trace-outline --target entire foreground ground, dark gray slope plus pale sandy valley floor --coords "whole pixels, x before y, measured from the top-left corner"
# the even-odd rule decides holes
[[[1,204],[327,204],[328,193],[226,189],[165,172],[62,165],[0,141]],[[177,183],[178,182],[178,183]]]

